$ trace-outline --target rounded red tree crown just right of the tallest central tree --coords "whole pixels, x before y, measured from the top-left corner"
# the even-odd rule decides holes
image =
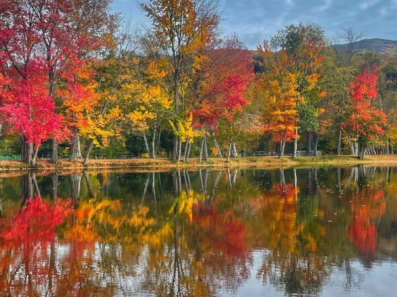
[[[250,51],[236,37],[206,54],[200,74],[203,83],[195,98],[194,126],[217,131],[221,118],[231,120],[233,113],[247,103],[244,94],[254,77],[253,63]]]

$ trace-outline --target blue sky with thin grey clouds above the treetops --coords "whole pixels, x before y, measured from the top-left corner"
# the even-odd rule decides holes
[[[133,24],[150,25],[136,0],[114,0],[114,12]],[[330,38],[344,27],[364,31],[365,38],[397,40],[397,0],[220,0],[223,34],[237,34],[249,49],[292,23],[317,23]]]

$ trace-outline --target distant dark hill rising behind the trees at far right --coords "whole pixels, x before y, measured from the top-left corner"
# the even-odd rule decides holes
[[[342,45],[332,45],[333,49],[344,50],[347,48],[346,44]],[[363,39],[355,43],[355,47],[360,49],[360,53],[366,51],[374,51],[377,54],[382,54],[391,57],[397,57],[397,41],[388,39]]]

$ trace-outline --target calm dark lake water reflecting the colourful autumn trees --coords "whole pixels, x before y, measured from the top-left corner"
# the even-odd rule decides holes
[[[0,178],[1,296],[396,296],[397,168]]]

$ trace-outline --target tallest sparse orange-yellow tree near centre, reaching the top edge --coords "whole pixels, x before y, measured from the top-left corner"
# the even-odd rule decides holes
[[[146,39],[148,52],[162,56],[167,76],[162,84],[164,93],[174,105],[173,123],[180,131],[178,120],[186,115],[186,87],[192,71],[199,67],[200,53],[216,30],[220,16],[214,0],[150,0],[141,9],[152,21],[152,35]],[[181,158],[181,140],[173,141],[174,160]]]

